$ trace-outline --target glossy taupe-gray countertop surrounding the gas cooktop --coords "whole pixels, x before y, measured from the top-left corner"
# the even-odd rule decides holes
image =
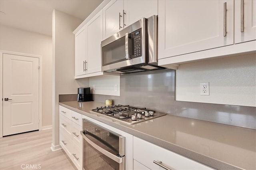
[[[104,103],[60,105],[216,169],[256,169],[256,130],[165,115],[127,125],[90,113]]]

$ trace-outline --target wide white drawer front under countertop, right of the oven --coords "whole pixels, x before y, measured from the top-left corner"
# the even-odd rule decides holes
[[[211,170],[208,166],[190,160],[184,156],[166,150],[160,146],[133,137],[134,159],[150,169],[161,169],[153,161],[162,161],[162,165],[175,170]]]

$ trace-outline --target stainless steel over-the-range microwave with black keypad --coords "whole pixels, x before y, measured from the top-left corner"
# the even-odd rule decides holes
[[[102,71],[135,73],[155,69],[157,57],[157,16],[142,18],[101,42]]]

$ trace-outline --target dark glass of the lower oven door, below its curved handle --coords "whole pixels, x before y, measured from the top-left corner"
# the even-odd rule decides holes
[[[85,170],[119,170],[119,164],[108,158],[84,140]]]

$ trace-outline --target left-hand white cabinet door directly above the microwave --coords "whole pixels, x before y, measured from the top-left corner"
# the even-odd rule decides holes
[[[108,38],[120,30],[122,26],[123,1],[112,0],[103,8],[103,38]]]

